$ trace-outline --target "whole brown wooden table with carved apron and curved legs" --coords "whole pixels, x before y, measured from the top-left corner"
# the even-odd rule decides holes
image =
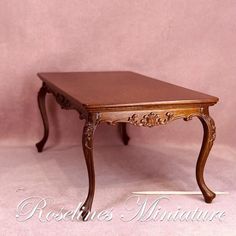
[[[75,109],[85,119],[82,135],[83,152],[88,170],[89,191],[83,204],[83,218],[91,211],[95,192],[93,136],[96,127],[106,122],[118,124],[125,145],[129,137],[126,124],[154,127],[176,119],[200,119],[204,137],[196,165],[196,178],[204,199],[215,197],[203,177],[204,166],[216,136],[209,106],[218,98],[128,71],[39,73],[43,85],[38,105],[44,124],[44,136],[36,144],[39,152],[48,139],[49,127],[45,95],[52,93],[63,109]]]

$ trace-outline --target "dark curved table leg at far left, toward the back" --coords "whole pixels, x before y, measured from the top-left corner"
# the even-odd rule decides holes
[[[39,110],[40,110],[42,120],[43,120],[44,135],[43,135],[42,140],[40,142],[36,143],[36,147],[38,149],[38,152],[43,151],[43,147],[44,147],[45,143],[47,142],[48,134],[49,134],[48,117],[47,117],[46,108],[45,108],[46,94],[47,94],[47,88],[43,84],[43,86],[41,87],[41,89],[38,92],[38,106],[39,106]]]

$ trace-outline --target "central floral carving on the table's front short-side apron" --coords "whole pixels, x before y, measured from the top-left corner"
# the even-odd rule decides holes
[[[157,125],[165,125],[169,121],[173,120],[174,114],[172,112],[166,112],[165,114],[156,114],[150,112],[144,115],[141,119],[137,114],[133,114],[128,118],[128,122],[137,126],[153,127]]]

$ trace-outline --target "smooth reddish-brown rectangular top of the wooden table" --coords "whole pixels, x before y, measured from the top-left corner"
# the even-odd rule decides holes
[[[217,97],[129,71],[39,73],[88,108],[160,104],[213,105]]]

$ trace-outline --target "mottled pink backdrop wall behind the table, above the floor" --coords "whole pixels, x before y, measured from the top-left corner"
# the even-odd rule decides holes
[[[217,143],[233,145],[235,45],[234,0],[1,0],[0,143],[32,145],[41,137],[37,72],[132,70],[219,96],[211,109]],[[78,143],[83,122],[76,112],[53,99],[48,107],[50,143]],[[201,139],[197,120],[130,133],[135,144]],[[119,142],[114,127],[96,135],[100,144]]]

